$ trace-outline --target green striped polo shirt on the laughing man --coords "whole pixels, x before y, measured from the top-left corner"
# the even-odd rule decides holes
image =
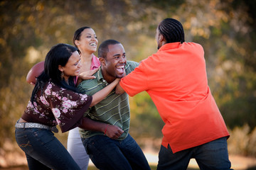
[[[138,65],[139,63],[137,62],[127,61],[127,64],[125,65],[126,74],[132,72]],[[78,85],[78,89],[82,91],[83,94],[92,96],[97,91],[100,91],[107,86],[107,81],[102,77],[101,69],[99,69],[94,76],[96,79],[84,80]],[[84,116],[110,125],[117,125],[124,130],[124,133],[118,140],[124,140],[129,132],[130,121],[129,98],[127,93],[119,95],[113,90],[105,99],[100,101],[100,103],[89,108]],[[80,129],[80,135],[83,138],[87,138],[104,134],[102,132]]]

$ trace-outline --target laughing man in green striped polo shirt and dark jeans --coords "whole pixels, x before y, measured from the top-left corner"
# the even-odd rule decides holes
[[[139,65],[126,60],[124,47],[116,40],[102,42],[98,55],[101,67],[94,74],[96,79],[82,81],[78,86],[82,93],[90,96]],[[107,125],[105,132],[80,129],[82,143],[98,169],[150,169],[142,149],[129,135],[130,110],[126,93],[119,95],[112,91],[85,116],[123,130],[122,135],[110,138],[106,135]]]

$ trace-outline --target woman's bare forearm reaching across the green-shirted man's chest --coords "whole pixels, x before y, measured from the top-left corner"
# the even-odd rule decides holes
[[[107,85],[104,89],[97,91],[96,94],[92,95],[92,103],[90,107],[95,106],[95,104],[102,101],[108,94],[114,89],[115,86],[119,83],[120,79],[115,79],[111,84]]]

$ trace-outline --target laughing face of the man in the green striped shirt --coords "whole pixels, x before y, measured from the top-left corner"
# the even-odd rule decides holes
[[[108,83],[116,78],[122,78],[125,75],[125,50],[122,44],[108,45],[107,57],[102,58],[102,74]]]

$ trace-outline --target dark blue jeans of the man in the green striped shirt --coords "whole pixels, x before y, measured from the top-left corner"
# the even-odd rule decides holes
[[[96,135],[82,138],[82,144],[97,169],[150,170],[142,149],[130,135],[124,140]]]

